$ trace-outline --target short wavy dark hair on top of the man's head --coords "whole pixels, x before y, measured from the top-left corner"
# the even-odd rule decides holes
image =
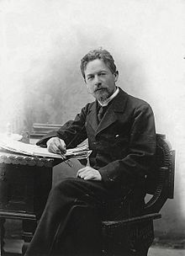
[[[94,61],[96,59],[102,60],[110,69],[110,71],[114,74],[116,72],[116,66],[114,64],[114,58],[110,55],[107,50],[103,48],[99,48],[97,50],[92,50],[85,55],[81,60],[81,72],[82,76],[85,78],[85,69],[87,67],[87,63],[89,61]]]

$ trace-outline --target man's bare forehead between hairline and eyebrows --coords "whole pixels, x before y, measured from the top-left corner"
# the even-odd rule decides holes
[[[104,61],[99,60],[99,59],[89,61],[87,63],[87,66],[86,66],[85,70],[84,70],[86,76],[88,74],[92,74],[92,73],[96,73],[96,72],[100,72],[100,71],[110,72],[110,69],[105,64]]]

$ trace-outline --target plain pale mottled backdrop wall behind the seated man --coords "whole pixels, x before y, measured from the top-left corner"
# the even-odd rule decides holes
[[[180,0],[0,1],[0,132],[74,118],[92,100],[80,59],[103,46],[118,85],[151,104],[156,131],[176,149],[175,200],[155,227],[185,237],[184,13]]]

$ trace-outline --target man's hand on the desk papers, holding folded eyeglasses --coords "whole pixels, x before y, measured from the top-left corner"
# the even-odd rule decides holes
[[[52,137],[49,141],[46,142],[47,149],[49,152],[56,154],[66,153],[66,143],[58,137]]]

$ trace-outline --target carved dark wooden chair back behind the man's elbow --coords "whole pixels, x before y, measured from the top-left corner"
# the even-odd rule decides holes
[[[166,136],[156,135],[155,176],[146,178],[146,192],[153,195],[145,204],[145,214],[159,212],[174,195],[175,151]]]

